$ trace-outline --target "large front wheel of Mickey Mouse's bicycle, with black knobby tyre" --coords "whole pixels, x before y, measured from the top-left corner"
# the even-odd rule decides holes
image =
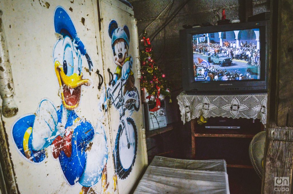
[[[115,167],[116,174],[119,178],[125,179],[134,165],[137,152],[137,129],[132,118],[127,118],[127,124],[130,133],[130,148],[127,147],[127,137],[125,129],[119,125],[117,137],[115,141]]]

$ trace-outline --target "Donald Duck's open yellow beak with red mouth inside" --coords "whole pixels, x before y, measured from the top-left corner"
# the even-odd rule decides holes
[[[74,73],[71,76],[67,76],[59,61],[56,61],[54,65],[59,86],[62,88],[62,103],[66,109],[74,110],[79,105],[81,86],[89,86],[91,82],[89,79],[82,79],[82,73],[80,75]]]

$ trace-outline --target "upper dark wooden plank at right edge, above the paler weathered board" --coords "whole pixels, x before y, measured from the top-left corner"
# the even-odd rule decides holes
[[[281,127],[293,127],[293,79],[288,76],[293,64],[293,2],[279,1],[277,37],[277,101],[276,123]],[[275,46],[275,45],[272,45]]]

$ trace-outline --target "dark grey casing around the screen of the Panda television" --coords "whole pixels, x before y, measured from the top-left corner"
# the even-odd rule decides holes
[[[187,92],[266,92],[268,89],[269,21],[232,23],[180,30],[183,91]],[[249,81],[194,81],[192,35],[244,29],[260,29],[260,79]]]

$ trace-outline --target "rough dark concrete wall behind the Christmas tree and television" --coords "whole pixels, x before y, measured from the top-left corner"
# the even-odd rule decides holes
[[[138,22],[139,35],[144,28],[149,25],[159,13],[168,5],[170,0],[129,0],[134,7],[134,16]],[[170,16],[178,10],[178,7],[185,1],[175,0],[170,11]],[[235,20],[243,18],[245,9],[244,0],[193,0],[188,2],[177,16],[166,26],[166,45],[164,49],[164,30],[162,30],[152,41],[154,48],[154,57],[161,69],[165,72],[167,79],[173,84],[173,104],[172,110],[178,110],[176,96],[182,91],[182,71],[181,71],[181,56],[180,56],[180,40],[179,30],[183,29],[184,24],[201,24],[203,22],[213,23],[214,13],[216,9],[226,9],[226,18]],[[270,0],[253,0],[253,14],[269,11]],[[170,6],[169,6],[170,7]],[[147,33],[152,38],[157,30],[163,26],[166,21],[168,9],[158,18],[148,29]],[[164,52],[163,52],[164,51]],[[163,54],[162,54],[163,52]],[[158,57],[161,58],[158,60]],[[167,110],[168,111],[168,110]],[[169,120],[180,119],[178,111],[172,111]]]

